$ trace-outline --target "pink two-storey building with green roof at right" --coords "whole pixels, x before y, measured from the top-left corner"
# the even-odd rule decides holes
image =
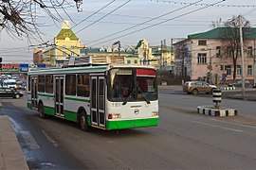
[[[236,67],[235,77],[241,79],[241,50],[240,47],[236,51],[232,50],[230,40],[224,37],[227,30],[226,27],[217,27],[207,32],[189,35],[188,39],[174,43],[175,74],[215,84],[221,81],[222,76],[226,76],[226,83],[229,83],[233,81]],[[244,38],[245,78],[253,82],[256,67],[256,28],[244,30]],[[234,67],[232,55],[235,54],[238,58]]]

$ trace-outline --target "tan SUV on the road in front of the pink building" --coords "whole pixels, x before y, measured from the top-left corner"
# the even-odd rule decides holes
[[[217,87],[205,81],[186,81],[183,84],[183,92],[186,93],[212,93]]]

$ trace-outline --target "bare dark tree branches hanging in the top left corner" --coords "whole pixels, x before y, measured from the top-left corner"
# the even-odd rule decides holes
[[[75,4],[79,10],[82,0],[75,0]],[[45,11],[54,21],[60,22],[63,19],[58,9],[74,7],[66,0],[0,0],[0,27],[13,37],[41,38],[39,12]]]

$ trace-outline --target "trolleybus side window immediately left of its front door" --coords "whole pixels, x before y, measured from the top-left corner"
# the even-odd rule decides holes
[[[78,96],[88,97],[90,95],[89,75],[82,74],[82,75],[78,75],[77,78],[78,78],[78,83],[77,83]]]

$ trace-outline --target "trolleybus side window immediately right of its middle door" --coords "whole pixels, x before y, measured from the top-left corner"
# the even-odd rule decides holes
[[[65,76],[65,94],[67,95],[76,95],[77,86],[76,86],[76,75],[66,75]]]

